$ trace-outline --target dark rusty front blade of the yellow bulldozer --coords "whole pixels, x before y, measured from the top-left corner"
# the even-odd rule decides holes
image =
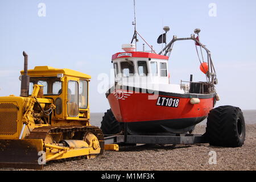
[[[0,139],[0,168],[43,169],[39,151],[42,139]]]

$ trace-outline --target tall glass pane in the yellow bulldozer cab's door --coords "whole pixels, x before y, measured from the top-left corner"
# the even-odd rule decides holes
[[[68,116],[77,117],[79,106],[78,82],[68,81]]]

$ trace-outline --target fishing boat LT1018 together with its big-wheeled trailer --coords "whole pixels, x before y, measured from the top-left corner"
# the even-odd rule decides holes
[[[134,0],[134,34],[122,52],[112,55],[114,85],[106,92],[110,109],[102,117],[101,130],[106,142],[137,144],[193,144],[241,147],[245,141],[245,119],[239,107],[225,105],[214,108],[220,97],[216,91],[217,75],[212,54],[200,42],[200,29],[187,38],[172,36],[167,44],[163,27],[157,43],[159,53],[136,30]],[[143,40],[142,51],[137,51],[138,36]],[[178,84],[170,81],[169,60],[175,42],[190,41],[195,45],[199,69],[205,79]],[[163,45],[165,46],[163,47]],[[150,49],[145,50],[145,45]],[[180,52],[183,54],[183,52]],[[182,64],[182,63],[181,63]],[[185,73],[189,74],[189,73]],[[184,77],[184,75],[183,75]],[[207,118],[206,132],[192,134],[195,126]]]

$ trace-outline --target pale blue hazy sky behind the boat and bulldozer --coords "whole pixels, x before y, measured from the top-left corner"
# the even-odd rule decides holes
[[[43,5],[43,6],[42,6]],[[45,8],[44,8],[45,7]],[[200,41],[212,52],[216,68],[216,106],[233,105],[256,109],[256,1],[246,0],[137,0],[137,31],[160,52],[156,40],[169,26],[173,35],[190,37],[200,28]],[[0,1],[0,96],[19,95],[22,52],[28,68],[48,65],[69,68],[92,76],[91,112],[109,109],[104,92],[99,92],[100,75],[113,82],[111,57],[130,43],[134,27],[133,0]],[[137,44],[142,50],[142,39]],[[193,42],[175,43],[169,59],[171,83],[205,81]]]

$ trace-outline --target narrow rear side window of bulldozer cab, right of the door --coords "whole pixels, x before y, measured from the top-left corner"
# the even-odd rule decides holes
[[[79,81],[79,108],[87,109],[88,105],[88,82],[85,80]]]

